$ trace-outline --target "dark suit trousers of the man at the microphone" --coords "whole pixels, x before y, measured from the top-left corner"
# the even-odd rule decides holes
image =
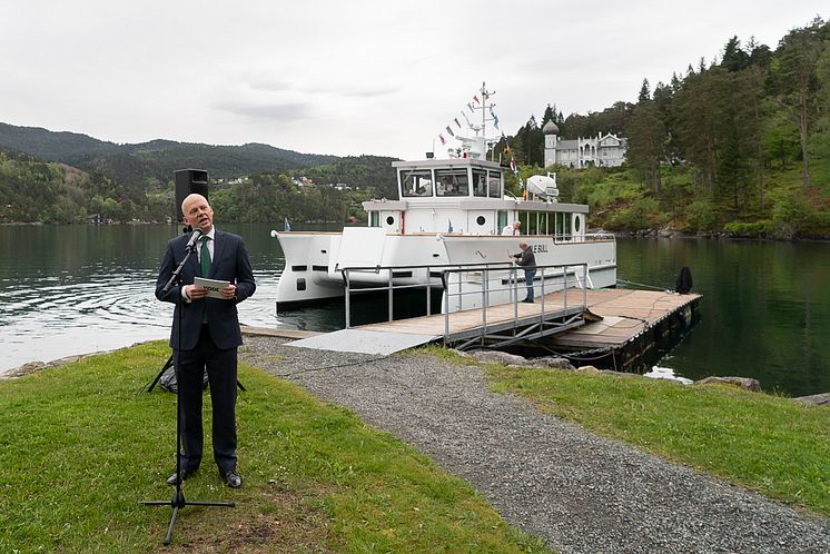
[[[214,461],[221,474],[236,469],[236,383],[237,348],[220,349],[202,324],[199,340],[191,350],[178,350],[179,409],[181,419],[182,469],[196,471],[201,463],[202,382],[207,368],[213,407]]]

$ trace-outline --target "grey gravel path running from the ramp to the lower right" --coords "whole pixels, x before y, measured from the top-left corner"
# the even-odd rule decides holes
[[[240,357],[416,446],[557,552],[830,553],[830,521],[492,393],[475,366],[285,342],[246,337]]]

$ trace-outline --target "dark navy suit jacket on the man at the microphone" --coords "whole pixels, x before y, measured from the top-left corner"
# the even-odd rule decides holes
[[[205,298],[188,303],[181,298],[181,290],[177,285],[174,285],[167,294],[162,294],[161,289],[185,258],[185,247],[189,238],[189,235],[181,235],[167,243],[165,257],[161,259],[161,269],[156,281],[156,298],[171,303],[180,300],[172,316],[170,347],[181,350],[196,347],[201,332],[201,319],[206,304],[210,337],[216,346],[221,349],[237,347],[243,344],[243,335],[239,330],[239,316],[236,305],[256,290],[254,271],[250,268],[245,244],[241,237],[217,229],[214,238],[214,259],[210,266],[210,275],[201,275],[199,258],[196,253],[190,256],[181,271],[181,286],[192,285],[194,277],[226,280],[236,285],[236,298],[231,300]],[[181,344],[179,344],[179,319],[181,319]]]

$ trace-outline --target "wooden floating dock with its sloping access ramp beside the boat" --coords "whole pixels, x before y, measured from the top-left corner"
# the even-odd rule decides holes
[[[502,304],[448,317],[435,314],[363,325],[290,344],[389,354],[428,343],[458,348],[535,343],[572,355],[575,360],[602,360],[601,365],[631,369],[665,338],[691,324],[700,298],[671,291],[569,289],[566,297],[562,291],[552,293],[535,304]],[[593,355],[589,358],[586,352]]]

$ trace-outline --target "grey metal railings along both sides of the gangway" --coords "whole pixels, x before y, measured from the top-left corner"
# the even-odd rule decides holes
[[[432,315],[432,291],[439,287],[443,293],[444,313],[444,344],[467,339],[468,343],[495,337],[496,342],[507,344],[521,339],[528,339],[553,333],[552,328],[560,325],[572,325],[571,316],[577,315],[587,308],[586,285],[590,286],[587,264],[554,264],[537,265],[534,278],[534,289],[540,288],[540,310],[533,317],[520,316],[518,313],[518,288],[525,288],[525,279],[520,277],[518,271],[524,268],[515,266],[510,261],[478,263],[478,264],[452,264],[452,265],[413,265],[413,266],[373,266],[373,267],[345,267],[338,269],[343,276],[345,287],[345,317],[346,328],[352,327],[352,295],[354,293],[379,293],[384,291],[388,297],[388,321],[394,320],[394,293],[396,290],[425,288],[426,289],[426,315]],[[409,274],[402,278],[401,274]],[[385,274],[385,283],[381,286],[354,286],[354,277],[374,274],[378,277]],[[397,274],[397,275],[396,275]],[[495,275],[494,275],[495,274]],[[416,277],[419,275],[421,277]],[[477,277],[477,278],[473,278]],[[398,283],[395,283],[396,279]],[[406,279],[405,283],[401,283]],[[434,283],[437,281],[437,283]],[[538,281],[538,283],[536,283]],[[493,287],[493,283],[502,286]],[[476,287],[475,285],[478,285]],[[580,288],[581,301],[574,301],[573,291],[569,297],[569,289]],[[562,304],[555,308],[546,306],[546,295],[562,291]],[[475,300],[466,301],[468,298]],[[505,301],[506,300],[506,301]],[[513,317],[510,325],[502,319],[494,324],[490,311],[494,306],[513,305]],[[461,311],[481,309],[481,326],[475,332],[454,333],[452,329],[452,316]],[[566,320],[555,323],[557,317]],[[535,319],[535,321],[534,321]],[[581,323],[580,323],[581,325]],[[518,327],[523,329],[518,332]],[[504,332],[507,330],[507,335]],[[500,334],[501,335],[497,335]],[[496,334],[496,335],[494,335]],[[468,344],[467,343],[467,344]],[[465,344],[466,345],[466,344]]]

